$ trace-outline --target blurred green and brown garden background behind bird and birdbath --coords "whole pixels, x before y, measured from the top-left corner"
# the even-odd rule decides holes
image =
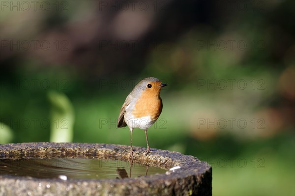
[[[207,161],[215,196],[295,195],[294,0],[0,3],[0,144],[129,145],[120,107],[153,76],[151,147]]]

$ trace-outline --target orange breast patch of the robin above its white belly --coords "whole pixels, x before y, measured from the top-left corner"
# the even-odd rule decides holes
[[[157,89],[155,89],[157,90]],[[162,112],[162,100],[159,97],[159,92],[152,89],[147,89],[138,98],[132,114],[135,118],[149,116],[151,120],[156,120]]]

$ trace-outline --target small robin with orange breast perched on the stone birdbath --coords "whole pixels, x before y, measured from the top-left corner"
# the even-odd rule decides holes
[[[140,81],[125,99],[118,117],[118,127],[127,126],[130,128],[130,155],[132,150],[132,131],[134,128],[144,129],[147,139],[148,154],[148,128],[159,118],[163,104],[160,98],[161,88],[166,86],[159,79],[148,77]]]

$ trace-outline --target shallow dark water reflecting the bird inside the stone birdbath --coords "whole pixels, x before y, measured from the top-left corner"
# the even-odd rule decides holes
[[[73,158],[0,160],[0,175],[35,178],[122,179],[165,172],[164,169],[135,163],[131,165],[130,162],[119,160]]]

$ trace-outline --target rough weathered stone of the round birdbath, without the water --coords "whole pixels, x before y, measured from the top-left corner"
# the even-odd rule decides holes
[[[0,159],[97,158],[129,161],[129,146],[89,143],[22,143],[0,145]],[[0,196],[211,196],[212,168],[179,152],[134,147],[134,163],[168,170],[124,179],[37,179],[0,175]],[[180,166],[180,169],[169,169]]]

